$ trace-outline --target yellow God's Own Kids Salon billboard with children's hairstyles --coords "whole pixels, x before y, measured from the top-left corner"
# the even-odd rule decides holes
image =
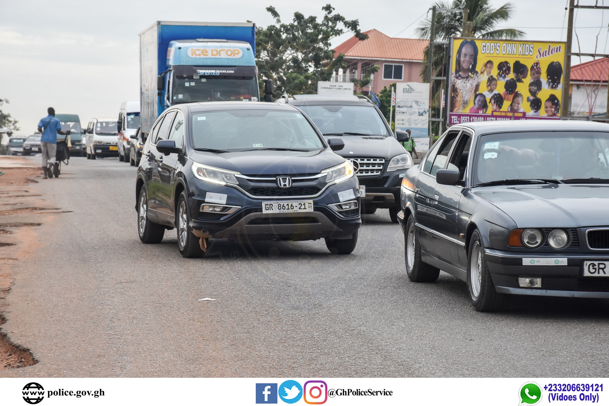
[[[452,39],[448,125],[560,119],[565,43]]]

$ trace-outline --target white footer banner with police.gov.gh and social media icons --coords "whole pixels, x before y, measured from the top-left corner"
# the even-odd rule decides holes
[[[0,404],[609,405],[607,385],[597,378],[4,378]]]

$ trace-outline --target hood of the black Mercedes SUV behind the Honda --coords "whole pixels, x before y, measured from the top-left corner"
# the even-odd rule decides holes
[[[328,138],[340,138],[345,142],[345,148],[336,153],[345,158],[383,158],[385,161],[393,158],[401,153],[406,153],[404,147],[393,136],[359,136],[359,135],[343,135],[343,136],[323,136]],[[353,153],[351,153],[353,152]]]

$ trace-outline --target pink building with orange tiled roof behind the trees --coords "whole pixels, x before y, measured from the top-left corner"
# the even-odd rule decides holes
[[[366,40],[351,37],[334,48],[335,56],[345,54],[348,68],[337,72],[333,82],[361,79],[374,65],[381,69],[373,75],[370,86],[362,89],[364,93],[371,90],[378,94],[384,86],[395,82],[421,82],[423,50],[429,41],[392,38],[375,29],[364,33],[368,35]]]

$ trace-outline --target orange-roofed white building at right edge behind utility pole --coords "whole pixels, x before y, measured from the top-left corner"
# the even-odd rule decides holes
[[[600,58],[571,66],[569,116],[604,117],[607,114],[609,59]]]

